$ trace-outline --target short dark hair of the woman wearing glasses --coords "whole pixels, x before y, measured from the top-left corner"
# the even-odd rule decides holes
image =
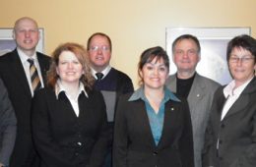
[[[230,58],[230,53],[233,48],[240,47],[251,52],[254,56],[254,61],[256,61],[256,39],[249,36],[248,34],[241,34],[232,38],[226,48],[226,60]]]

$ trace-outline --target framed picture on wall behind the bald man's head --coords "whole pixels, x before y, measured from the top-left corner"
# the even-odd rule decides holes
[[[43,53],[43,28],[39,28],[40,39],[36,46],[36,50]],[[14,50],[16,48],[16,42],[13,39],[13,28],[0,28],[0,56]]]

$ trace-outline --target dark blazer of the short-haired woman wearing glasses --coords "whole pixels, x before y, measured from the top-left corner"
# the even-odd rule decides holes
[[[206,131],[204,166],[255,167],[256,79],[248,83],[221,121],[224,101],[223,86],[216,91],[214,97]]]

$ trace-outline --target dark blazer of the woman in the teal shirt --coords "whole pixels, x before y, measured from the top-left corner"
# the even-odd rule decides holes
[[[193,167],[193,137],[186,100],[165,103],[160,142],[156,145],[145,102],[128,101],[131,93],[117,104],[114,167]]]

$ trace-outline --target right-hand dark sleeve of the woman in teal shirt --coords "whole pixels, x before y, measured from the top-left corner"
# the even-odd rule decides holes
[[[182,101],[182,111],[184,113],[184,128],[181,139],[179,140],[179,148],[182,159],[182,166],[193,167],[194,149],[191,117],[187,101],[185,99],[183,99]]]

